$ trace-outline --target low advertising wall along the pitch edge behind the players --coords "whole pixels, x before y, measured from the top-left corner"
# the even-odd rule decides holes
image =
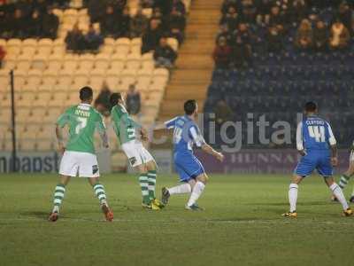
[[[158,163],[160,173],[173,173],[173,153],[171,150],[155,150],[152,152]],[[335,174],[342,173],[348,167],[349,151],[339,151],[339,166]],[[241,150],[238,153],[225,153],[224,162],[220,163],[211,155],[196,152],[208,173],[224,174],[290,174],[296,167],[299,155],[295,150]],[[109,151],[97,153],[101,173],[111,173],[111,157]],[[58,153],[19,153],[16,167],[22,173],[58,173],[60,156]],[[11,153],[0,153],[0,173],[10,171]],[[132,172],[128,169],[128,172]]]

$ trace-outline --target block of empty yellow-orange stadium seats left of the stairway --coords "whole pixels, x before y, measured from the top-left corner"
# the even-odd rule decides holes
[[[127,1],[133,16],[139,1]],[[190,0],[184,1],[189,10]],[[141,55],[141,38],[105,38],[96,55],[70,54],[65,51],[65,35],[78,22],[85,32],[89,28],[87,9],[81,0],[73,0],[73,8],[53,12],[60,24],[58,39],[0,39],[6,51],[0,69],[0,149],[11,151],[10,71],[14,73],[16,121],[20,151],[50,151],[54,147],[53,122],[67,106],[78,102],[78,90],[93,87],[95,94],[104,82],[111,90],[127,91],[135,83],[142,92],[143,125],[155,121],[165,86],[169,80],[166,69],[155,68],[151,53]],[[143,12],[150,17],[152,10]],[[97,25],[95,26],[97,27]],[[178,42],[168,43],[174,50]],[[109,121],[108,121],[109,123]],[[4,129],[4,130],[3,130]]]

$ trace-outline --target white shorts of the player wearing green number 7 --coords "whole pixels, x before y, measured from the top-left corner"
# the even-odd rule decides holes
[[[98,177],[97,157],[92,153],[66,151],[60,161],[59,174],[73,177]]]

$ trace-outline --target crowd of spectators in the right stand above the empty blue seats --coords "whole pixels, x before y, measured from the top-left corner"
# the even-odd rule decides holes
[[[330,18],[320,11],[331,8]],[[225,0],[213,59],[219,67],[247,67],[252,53],[341,51],[354,32],[354,3],[342,0]],[[290,38],[289,38],[290,37]]]

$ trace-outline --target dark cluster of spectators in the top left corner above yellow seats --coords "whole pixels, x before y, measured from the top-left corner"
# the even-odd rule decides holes
[[[0,38],[56,38],[59,20],[54,6],[69,1],[19,0],[0,1]]]

